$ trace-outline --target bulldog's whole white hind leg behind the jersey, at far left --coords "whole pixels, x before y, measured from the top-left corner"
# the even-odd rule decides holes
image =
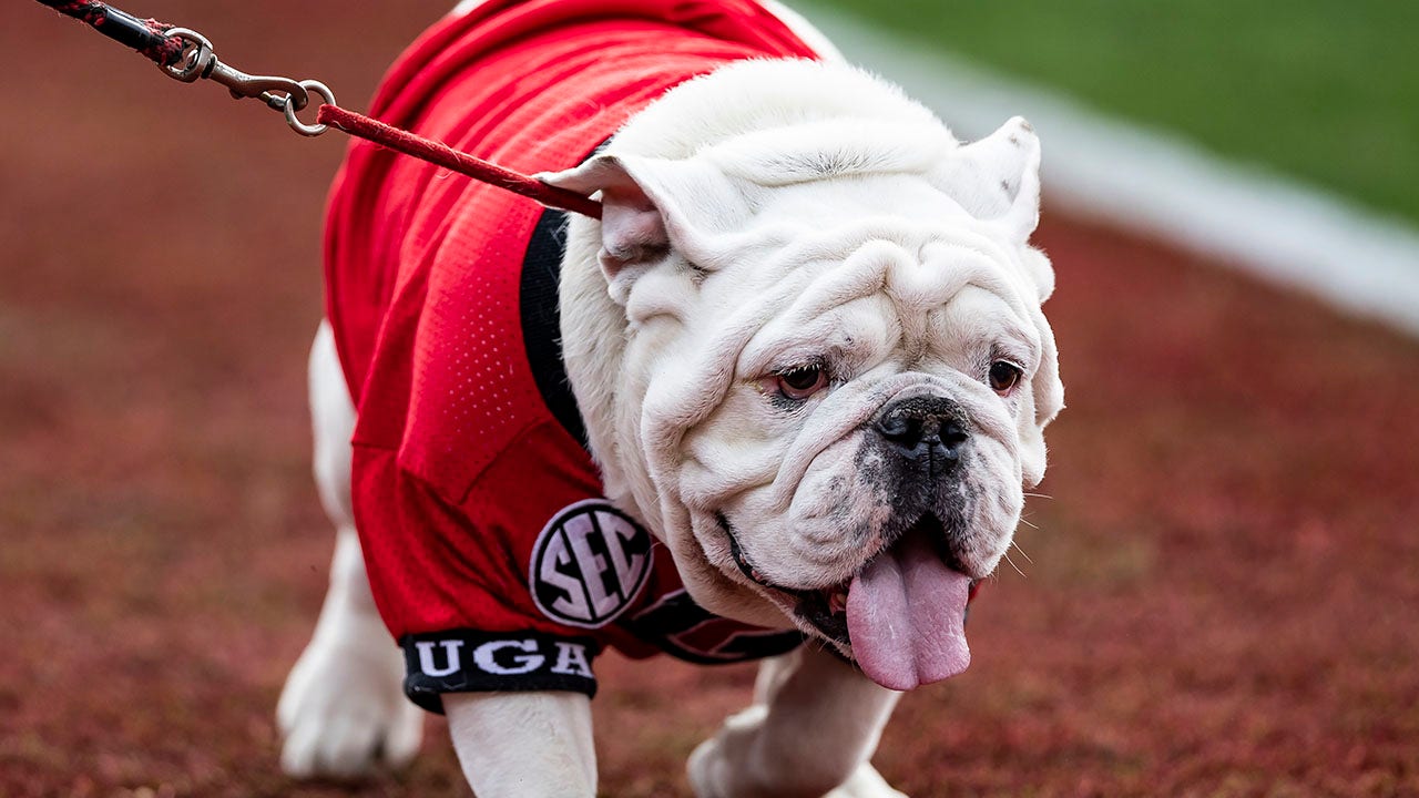
[[[328,324],[311,348],[309,381],[315,481],[338,532],[321,619],[277,706],[281,767],[294,777],[349,778],[379,763],[407,764],[419,751],[423,710],[403,696],[403,659],[365,575],[349,488],[355,408]]]

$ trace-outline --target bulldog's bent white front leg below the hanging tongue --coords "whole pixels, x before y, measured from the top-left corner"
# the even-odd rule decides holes
[[[900,798],[867,761],[900,693],[810,643],[759,669],[753,706],[690,755],[700,798]]]

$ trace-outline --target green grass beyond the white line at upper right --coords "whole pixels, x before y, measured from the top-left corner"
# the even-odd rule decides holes
[[[1412,0],[812,0],[1419,222]]]

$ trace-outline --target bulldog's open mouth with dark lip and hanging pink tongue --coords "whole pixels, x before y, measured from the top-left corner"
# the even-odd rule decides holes
[[[962,572],[934,514],[918,518],[850,579],[816,589],[766,579],[745,557],[728,517],[715,513],[715,520],[739,571],[790,596],[795,615],[839,643],[883,687],[911,690],[971,665],[965,612],[979,579]]]

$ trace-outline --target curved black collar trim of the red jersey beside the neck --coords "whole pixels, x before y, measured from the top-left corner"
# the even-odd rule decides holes
[[[562,364],[562,314],[558,308],[558,283],[562,254],[566,251],[566,213],[546,209],[532,229],[526,254],[522,256],[522,285],[518,305],[522,315],[522,344],[526,348],[532,381],[552,416],[585,449],[586,426],[572,395],[572,382]]]

